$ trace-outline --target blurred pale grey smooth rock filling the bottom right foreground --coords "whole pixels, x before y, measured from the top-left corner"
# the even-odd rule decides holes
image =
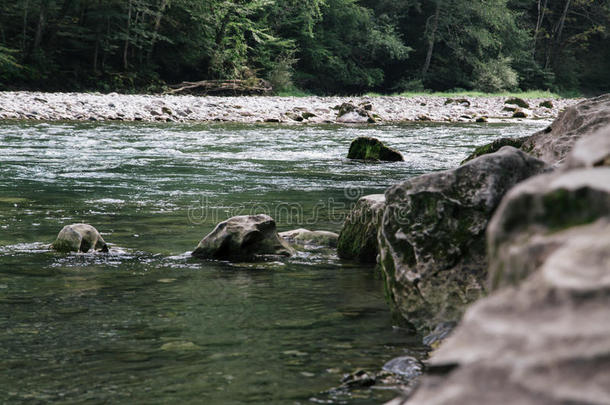
[[[468,309],[408,405],[610,403],[610,217],[553,238],[519,286]]]

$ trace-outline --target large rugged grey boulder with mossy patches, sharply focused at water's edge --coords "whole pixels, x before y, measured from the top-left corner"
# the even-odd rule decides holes
[[[510,188],[544,168],[506,146],[386,191],[380,264],[388,298],[408,322],[429,330],[483,295],[488,221]]]

